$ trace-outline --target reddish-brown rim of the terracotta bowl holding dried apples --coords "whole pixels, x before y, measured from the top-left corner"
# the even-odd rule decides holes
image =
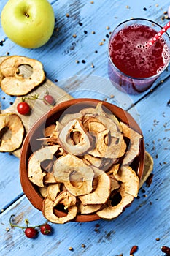
[[[112,113],[118,113],[115,114],[115,116],[121,120],[120,116],[121,114],[125,114],[125,120],[123,120],[126,124],[133,123],[133,126],[131,126],[133,129],[135,129],[137,132],[139,132],[142,135],[142,140],[140,141],[140,157],[141,160],[139,161],[138,166],[138,176],[139,179],[142,178],[142,173],[144,170],[144,137],[142,134],[142,130],[140,129],[139,125],[136,123],[134,118],[131,116],[130,113],[128,113],[126,110],[123,110],[123,108],[118,107],[117,105],[113,105],[109,102],[104,102],[100,99],[90,99],[90,98],[79,98],[79,99],[69,99],[65,102],[58,103],[58,105],[55,105],[53,108],[51,108],[47,113],[45,113],[43,116],[41,116],[35,124],[31,127],[31,129],[28,130],[28,133],[26,134],[26,137],[23,140],[23,145],[21,147],[20,151],[20,184],[23,188],[23,192],[28,198],[28,200],[31,202],[31,204],[37,208],[39,211],[42,211],[43,206],[43,197],[40,195],[39,192],[36,191],[35,185],[31,183],[31,181],[28,179],[28,165],[27,165],[27,159],[28,159],[28,146],[30,145],[31,138],[34,136],[34,131],[42,126],[42,124],[47,120],[47,118],[50,118],[58,111],[64,111],[66,108],[69,108],[70,106],[81,103],[81,102],[87,102],[88,104],[93,103],[95,106],[98,102],[102,102],[102,105],[104,105],[106,108],[108,108]],[[57,119],[56,119],[57,121]],[[122,120],[121,120],[122,121]],[[29,157],[31,154],[29,155]],[[66,214],[63,211],[59,211],[55,209],[55,214],[59,215],[59,217],[66,216]],[[97,214],[77,214],[77,217],[73,219],[74,222],[90,222],[101,219],[98,217]]]

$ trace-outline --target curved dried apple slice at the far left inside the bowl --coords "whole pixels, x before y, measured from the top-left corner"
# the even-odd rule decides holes
[[[46,176],[45,172],[42,172],[41,162],[47,159],[53,159],[53,155],[58,151],[59,146],[47,146],[40,148],[31,154],[31,157],[28,160],[28,178],[31,182],[36,184],[39,187],[44,187],[44,177]]]

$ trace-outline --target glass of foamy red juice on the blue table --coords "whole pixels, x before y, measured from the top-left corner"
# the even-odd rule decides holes
[[[146,91],[168,67],[170,37],[164,33],[153,45],[147,45],[162,27],[157,23],[135,18],[116,27],[109,39],[108,74],[112,83],[128,94]]]

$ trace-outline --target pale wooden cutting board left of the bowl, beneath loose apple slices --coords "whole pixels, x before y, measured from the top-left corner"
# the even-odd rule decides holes
[[[1,61],[6,59],[7,56],[0,57],[0,64]],[[31,75],[31,67],[28,65],[22,65],[20,66],[20,73],[23,74],[26,77],[29,77]],[[66,93],[66,91],[63,91],[60,87],[58,87],[56,84],[54,84],[52,81],[46,79],[41,86],[36,87],[33,91],[26,94],[23,97],[32,97],[35,94],[39,94],[39,98],[43,98],[46,92],[49,92],[49,94],[53,95],[53,98],[55,99],[55,104],[58,104],[60,102],[64,102],[66,100],[72,99],[72,96]],[[48,110],[50,110],[51,106],[46,105],[45,102],[41,99],[36,100],[26,100],[28,104],[31,107],[31,113],[28,116],[20,115],[17,111],[17,105],[19,102],[21,102],[22,97],[16,97],[15,102],[7,109],[1,110],[1,113],[17,113],[18,116],[20,116],[21,120],[23,121],[23,125],[26,129],[26,132],[31,128],[31,126],[45,113],[47,113]],[[8,135],[6,135],[8,136]],[[15,157],[20,157],[20,149],[12,152]]]

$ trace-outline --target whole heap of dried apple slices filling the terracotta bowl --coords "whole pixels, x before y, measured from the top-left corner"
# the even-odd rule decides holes
[[[42,148],[28,160],[28,178],[44,197],[42,212],[50,222],[92,213],[114,219],[137,196],[139,177],[131,163],[139,155],[142,135],[102,102],[63,115],[44,135]],[[64,217],[54,211],[61,206]]]

